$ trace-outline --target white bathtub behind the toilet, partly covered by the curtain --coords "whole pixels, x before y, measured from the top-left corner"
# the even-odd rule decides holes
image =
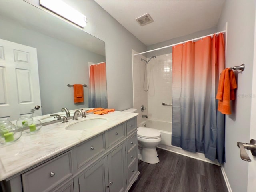
[[[180,147],[172,146],[172,122],[164,122],[159,120],[147,119],[142,123],[138,124],[138,127],[144,127],[144,126],[155,129],[161,133],[162,141],[157,146],[157,148],[161,148],[170,152],[174,152],[180,155],[184,155],[190,158],[198,159],[204,162],[208,162],[208,163],[212,163],[220,166],[217,160],[211,161],[205,158],[204,154],[202,153],[189,152],[189,151],[183,150]]]

